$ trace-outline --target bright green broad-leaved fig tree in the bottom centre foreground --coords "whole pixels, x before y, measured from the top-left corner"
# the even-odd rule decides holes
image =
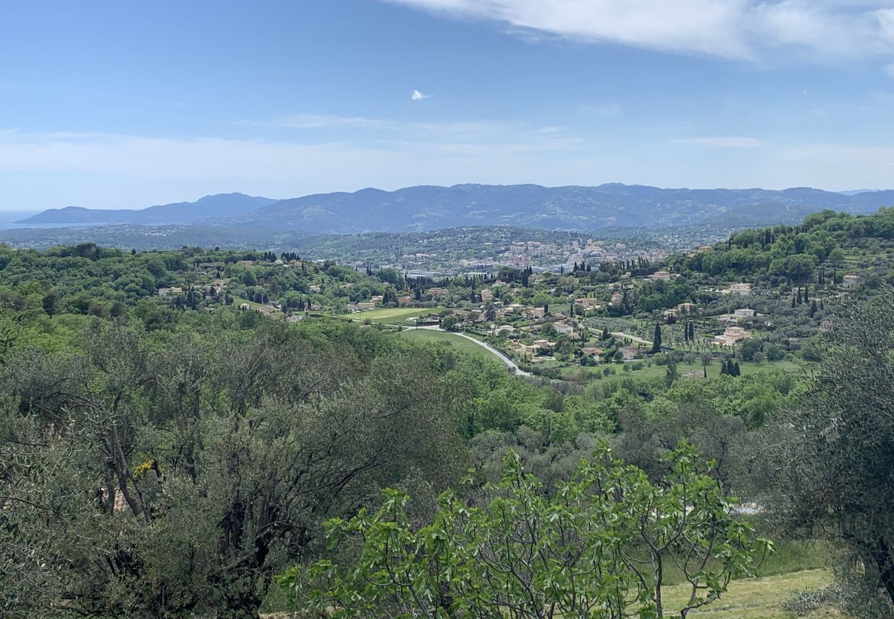
[[[335,617],[686,617],[753,574],[770,543],[730,515],[694,447],[669,459],[652,483],[601,441],[546,493],[511,453],[498,483],[470,500],[445,491],[420,528],[409,496],[386,489],[378,511],[328,522],[334,559],[278,580],[299,610]],[[689,592],[672,611],[662,600],[669,570]]]

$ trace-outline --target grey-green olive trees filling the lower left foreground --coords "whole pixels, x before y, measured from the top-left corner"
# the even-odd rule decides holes
[[[257,616],[322,522],[464,464],[424,352],[360,363],[286,326],[0,369],[0,615]]]

